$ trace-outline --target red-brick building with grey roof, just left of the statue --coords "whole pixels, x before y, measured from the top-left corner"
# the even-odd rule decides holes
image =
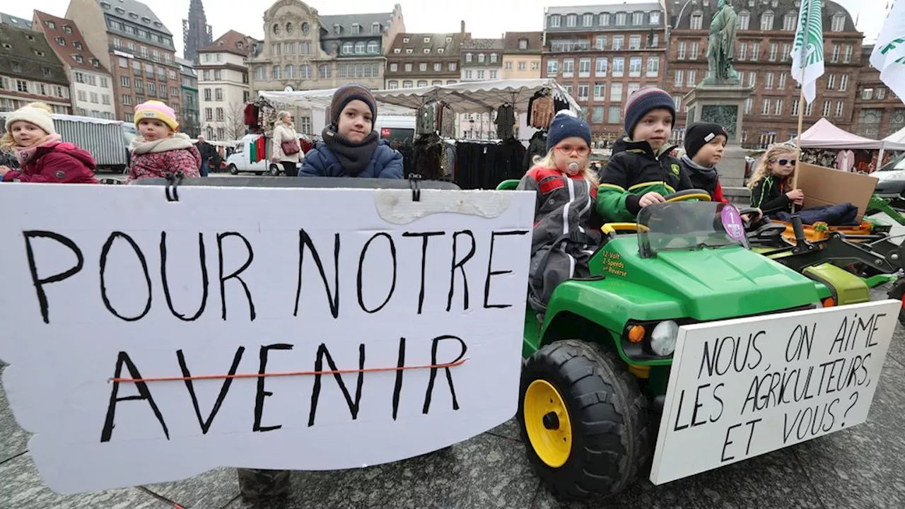
[[[614,141],[628,96],[662,84],[665,22],[659,3],[549,7],[541,76],[575,98],[595,139]]]

